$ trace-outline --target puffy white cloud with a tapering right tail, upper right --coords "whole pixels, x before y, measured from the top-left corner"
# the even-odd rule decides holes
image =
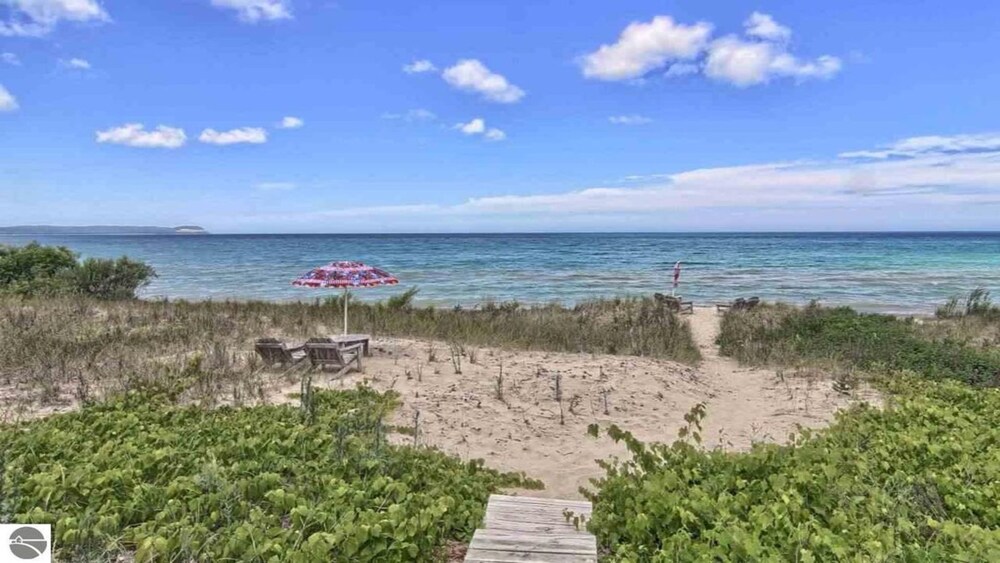
[[[709,45],[705,75],[747,87],[767,83],[775,77],[827,79],[837,74],[841,66],[837,57],[824,55],[813,61],[801,61],[778,43],[745,41],[728,35]]]

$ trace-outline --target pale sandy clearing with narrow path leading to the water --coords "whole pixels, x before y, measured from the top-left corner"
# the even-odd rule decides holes
[[[587,436],[591,423],[617,424],[644,441],[671,442],[684,415],[704,402],[704,446],[744,450],[754,441],[784,442],[797,424],[825,425],[838,409],[869,398],[837,393],[821,375],[741,367],[718,353],[720,316],[713,308],[698,308],[688,319],[704,355],[698,366],[634,356],[466,347],[456,370],[444,343],[387,338],[375,343],[365,373],[338,381],[320,378],[317,384],[342,388],[366,382],[393,389],[402,406],[392,423],[418,421],[418,444],[523,471],[546,485],[533,495],[560,498],[579,498],[579,487],[602,474],[594,460],[627,454],[607,438]]]

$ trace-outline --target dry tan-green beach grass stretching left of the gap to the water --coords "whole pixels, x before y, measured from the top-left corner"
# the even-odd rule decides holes
[[[411,295],[412,297],[412,295]],[[251,353],[261,337],[290,343],[337,334],[341,302],[99,301],[84,297],[0,299],[0,383],[38,402],[86,403],[104,392],[183,379],[203,400],[235,404],[263,393]],[[352,332],[467,346],[623,354],[694,363],[688,324],[651,299],[572,308],[487,304],[476,309],[410,305],[406,297],[352,302]]]

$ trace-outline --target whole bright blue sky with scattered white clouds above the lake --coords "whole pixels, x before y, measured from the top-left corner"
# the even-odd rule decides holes
[[[0,224],[993,230],[993,2],[0,0]]]

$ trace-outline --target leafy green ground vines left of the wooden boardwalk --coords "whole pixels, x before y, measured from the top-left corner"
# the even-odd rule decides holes
[[[531,484],[390,445],[391,395],[315,391],[293,406],[177,407],[128,394],[0,427],[0,521],[51,523],[60,560],[430,561],[489,494]]]

